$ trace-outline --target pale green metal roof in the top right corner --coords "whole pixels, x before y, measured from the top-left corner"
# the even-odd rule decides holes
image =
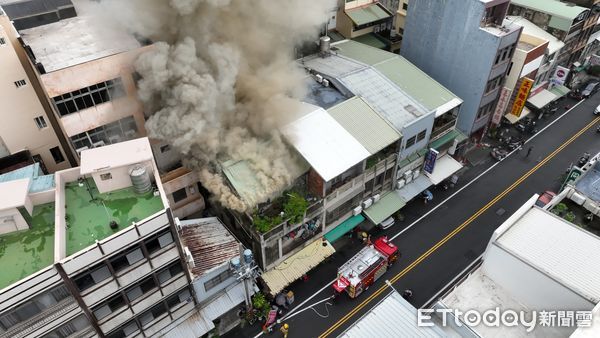
[[[538,12],[550,14],[549,26],[568,31],[571,23],[581,12],[588,9],[580,6],[573,6],[570,3],[557,0],[512,0],[511,5],[530,8]],[[562,19],[562,20],[561,20]]]

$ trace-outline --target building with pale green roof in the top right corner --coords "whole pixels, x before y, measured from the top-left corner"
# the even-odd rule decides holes
[[[558,0],[513,0],[509,14],[522,16],[564,42],[557,61],[567,68],[579,61],[598,21],[588,8]]]

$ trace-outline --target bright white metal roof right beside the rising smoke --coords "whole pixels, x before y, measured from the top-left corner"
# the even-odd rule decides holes
[[[329,181],[371,156],[323,108],[313,108],[281,132],[323,180]]]

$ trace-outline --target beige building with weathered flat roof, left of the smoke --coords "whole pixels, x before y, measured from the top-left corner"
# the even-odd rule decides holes
[[[133,62],[150,46],[81,17],[19,33],[76,153],[146,134]]]

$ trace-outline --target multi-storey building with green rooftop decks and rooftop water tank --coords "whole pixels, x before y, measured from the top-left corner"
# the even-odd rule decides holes
[[[0,178],[1,337],[155,336],[194,313],[158,177],[140,138],[54,175],[34,164]]]

